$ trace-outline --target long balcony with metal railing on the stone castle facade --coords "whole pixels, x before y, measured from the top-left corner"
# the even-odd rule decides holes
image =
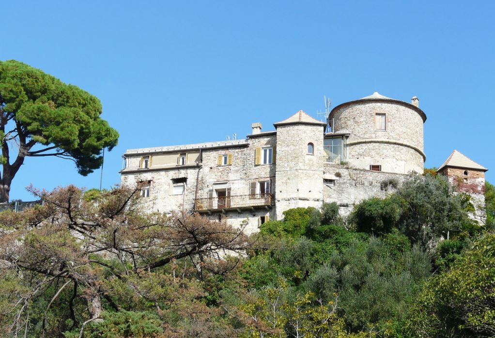
[[[226,212],[229,210],[254,210],[271,208],[273,196],[268,193],[255,195],[237,195],[226,197],[196,198],[194,210],[199,213]]]

